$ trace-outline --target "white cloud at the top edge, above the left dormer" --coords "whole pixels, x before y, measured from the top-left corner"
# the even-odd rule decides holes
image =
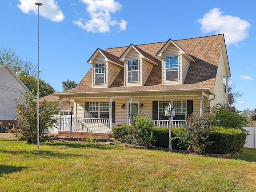
[[[126,30],[127,22],[121,20],[117,22],[112,19],[111,13],[119,11],[122,5],[115,0],[80,0],[86,4],[86,11],[90,15],[90,20],[80,18],[73,21],[78,27],[86,30],[87,32],[103,33],[110,32],[111,26],[117,26],[118,32]]]

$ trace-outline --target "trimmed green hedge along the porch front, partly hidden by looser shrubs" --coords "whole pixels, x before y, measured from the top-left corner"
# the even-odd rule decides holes
[[[113,127],[112,136],[122,141],[122,138],[130,132],[130,128],[129,125]],[[153,130],[156,136],[156,142],[153,145],[169,148],[169,129],[154,127]],[[172,138],[182,131],[183,128],[172,128]],[[214,133],[210,135],[210,140],[214,142],[206,148],[206,152],[224,154],[241,150],[245,144],[246,133],[237,129],[216,127]],[[180,141],[178,138],[172,140],[173,149],[186,150],[187,146],[185,141]]]

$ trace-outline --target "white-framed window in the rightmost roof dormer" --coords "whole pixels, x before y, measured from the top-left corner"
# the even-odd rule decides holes
[[[178,56],[165,58],[165,80],[178,79]]]

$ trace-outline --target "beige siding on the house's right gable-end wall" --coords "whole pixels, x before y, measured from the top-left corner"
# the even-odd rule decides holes
[[[214,92],[216,93],[216,98],[212,100],[212,102],[210,103],[210,107],[216,104],[227,104],[228,102],[228,91],[226,90],[226,93],[224,93],[223,91],[223,76],[226,76],[226,69],[224,66],[222,51],[220,51],[220,60],[214,85]]]

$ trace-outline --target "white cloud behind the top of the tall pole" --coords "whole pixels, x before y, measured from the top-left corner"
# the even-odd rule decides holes
[[[20,4],[17,5],[22,12],[28,14],[30,12],[38,14],[38,6],[35,5],[38,0],[20,0]],[[39,14],[44,18],[47,18],[54,22],[61,22],[64,20],[64,14],[60,10],[57,1],[54,0],[40,0],[43,5],[40,6]]]

